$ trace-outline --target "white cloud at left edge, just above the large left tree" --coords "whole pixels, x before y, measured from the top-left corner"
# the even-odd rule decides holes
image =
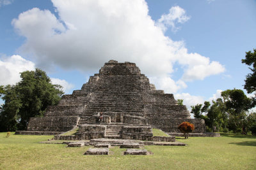
[[[35,70],[35,64],[20,55],[4,57],[0,60],[0,85],[13,85],[19,82],[20,73],[26,70]]]

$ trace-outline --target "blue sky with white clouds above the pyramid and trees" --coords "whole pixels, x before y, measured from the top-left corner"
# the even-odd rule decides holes
[[[190,110],[243,89],[255,9],[255,0],[0,0],[0,85],[39,67],[72,94],[108,60],[129,61]]]

